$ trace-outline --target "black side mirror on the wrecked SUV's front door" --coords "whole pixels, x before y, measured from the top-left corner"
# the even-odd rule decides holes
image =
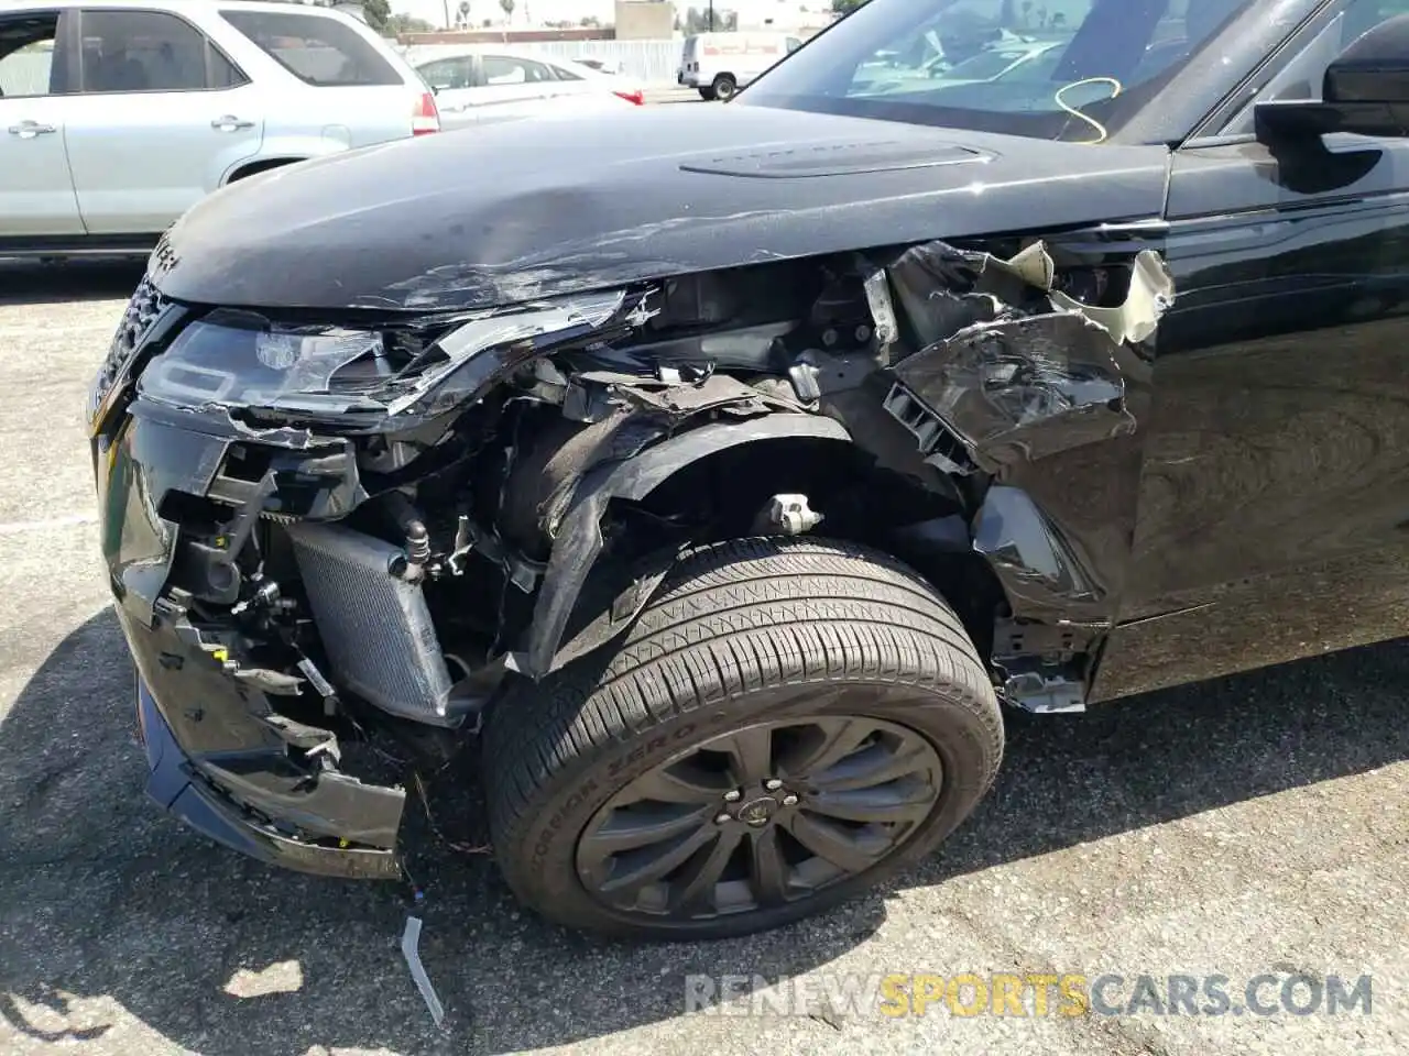
[[[1409,137],[1409,14],[1353,41],[1326,68],[1322,101],[1258,103],[1254,124],[1270,144],[1327,132]]]

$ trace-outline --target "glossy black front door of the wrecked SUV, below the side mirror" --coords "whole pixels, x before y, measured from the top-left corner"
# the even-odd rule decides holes
[[[1274,151],[1253,122],[1406,11],[1333,4],[1174,155],[1178,301],[1093,698],[1409,634],[1409,139]]]

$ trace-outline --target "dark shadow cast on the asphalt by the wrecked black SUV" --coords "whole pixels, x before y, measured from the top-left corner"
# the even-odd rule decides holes
[[[104,611],[48,656],[0,725],[0,1036],[121,1029],[141,1050],[131,1025],[113,1026],[116,1002],[209,1056],[523,1052],[676,1017],[692,972],[806,972],[885,919],[881,893],[752,939],[607,945],[520,915],[486,859],[435,856],[414,911],[448,1010],[441,1032],[397,949],[404,890],[269,872],[145,801],[131,679]],[[1392,643],[1089,717],[1013,717],[995,793],[902,886],[1409,758],[1402,703],[1385,691],[1406,680],[1409,645]],[[227,993],[241,970],[299,987]]]

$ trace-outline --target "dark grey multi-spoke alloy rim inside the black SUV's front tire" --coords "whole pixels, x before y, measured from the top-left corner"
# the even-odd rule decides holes
[[[861,715],[759,722],[630,781],[578,838],[585,888],[617,912],[769,910],[864,873],[936,808],[938,752]]]

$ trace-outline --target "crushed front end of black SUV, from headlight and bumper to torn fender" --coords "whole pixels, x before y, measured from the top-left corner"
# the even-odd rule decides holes
[[[686,548],[821,520],[940,584],[1016,703],[1079,700],[1112,577],[1031,467],[1136,465],[1172,290],[1153,253],[1067,263],[926,244],[473,313],[144,282],[89,422],[149,793],[395,877],[409,774],[510,680],[610,642]]]

